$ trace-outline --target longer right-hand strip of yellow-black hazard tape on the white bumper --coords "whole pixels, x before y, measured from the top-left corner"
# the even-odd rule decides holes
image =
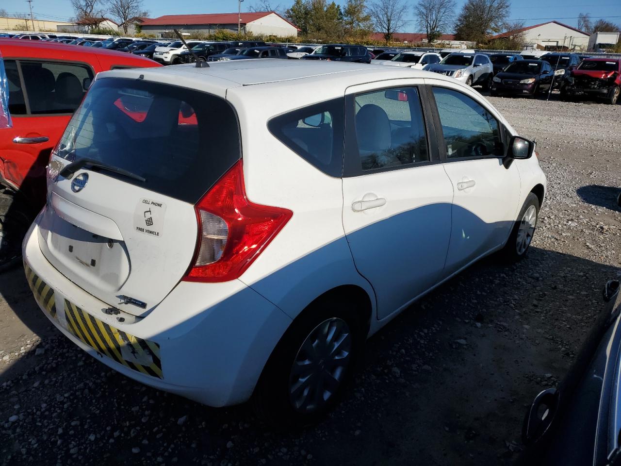
[[[164,378],[158,344],[111,327],[66,299],[65,318],[69,331],[97,352],[130,369]]]

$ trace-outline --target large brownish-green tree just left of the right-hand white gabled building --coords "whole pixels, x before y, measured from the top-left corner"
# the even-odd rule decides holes
[[[468,0],[455,21],[455,38],[483,42],[501,32],[510,8],[509,0]]]

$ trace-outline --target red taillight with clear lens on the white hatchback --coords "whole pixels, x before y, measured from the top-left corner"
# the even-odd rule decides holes
[[[242,161],[235,163],[196,204],[198,239],[186,281],[238,278],[289,221],[288,209],[248,200]]]

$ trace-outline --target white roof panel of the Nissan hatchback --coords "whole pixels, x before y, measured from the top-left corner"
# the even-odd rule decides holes
[[[225,96],[227,89],[240,86],[257,86],[268,83],[296,80],[296,86],[309,86],[314,92],[324,81],[332,81],[335,76],[345,79],[345,88],[370,81],[403,78],[434,78],[455,81],[437,73],[402,68],[401,66],[366,65],[350,62],[316,62],[307,60],[232,60],[230,62],[210,62],[209,68],[196,68],[193,64],[148,68],[143,70],[112,70],[100,73],[102,78],[119,77],[142,79],[170,85],[183,85],[209,93]],[[344,89],[344,88],[343,88]]]

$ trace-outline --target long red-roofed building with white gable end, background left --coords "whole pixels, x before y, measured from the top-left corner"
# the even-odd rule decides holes
[[[276,35],[278,37],[297,36],[296,25],[273,11],[256,13],[214,13],[214,14],[169,14],[158,18],[148,18],[140,23],[145,34],[161,37],[173,29],[189,34],[212,34],[217,30],[237,32],[239,22],[242,33]]]

